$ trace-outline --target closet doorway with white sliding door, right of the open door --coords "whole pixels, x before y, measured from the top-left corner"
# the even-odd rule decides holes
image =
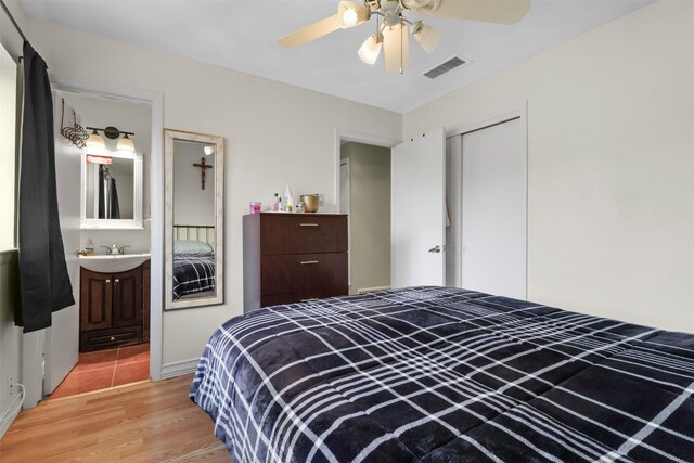
[[[527,297],[525,106],[449,132],[447,284]]]

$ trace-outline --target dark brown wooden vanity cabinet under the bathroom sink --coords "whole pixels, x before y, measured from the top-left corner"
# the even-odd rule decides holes
[[[147,342],[150,260],[123,272],[80,269],[79,350]]]

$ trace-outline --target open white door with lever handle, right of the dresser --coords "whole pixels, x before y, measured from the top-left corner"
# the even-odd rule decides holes
[[[393,287],[446,283],[445,149],[442,128],[393,149]]]

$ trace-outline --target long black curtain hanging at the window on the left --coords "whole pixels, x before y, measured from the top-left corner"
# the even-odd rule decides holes
[[[51,325],[51,313],[75,304],[67,274],[55,191],[53,100],[48,66],[24,42],[24,118],[20,172],[17,324],[28,333]]]

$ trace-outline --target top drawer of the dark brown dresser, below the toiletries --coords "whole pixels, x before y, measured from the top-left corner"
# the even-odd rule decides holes
[[[260,254],[347,252],[347,217],[311,214],[264,214]]]

